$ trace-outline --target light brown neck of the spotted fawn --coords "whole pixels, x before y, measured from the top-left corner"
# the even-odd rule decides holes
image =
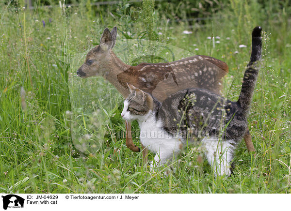
[[[103,77],[108,80],[125,99],[129,95],[129,90],[121,86],[121,84],[118,82],[117,75],[123,71],[128,70],[130,67],[130,65],[120,60],[112,51],[106,68],[107,70],[103,75]]]

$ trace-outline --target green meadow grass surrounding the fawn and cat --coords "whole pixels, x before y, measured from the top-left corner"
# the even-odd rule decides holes
[[[164,14],[175,15],[178,9],[157,5],[152,17],[155,33],[162,33],[158,41],[175,46],[169,51],[175,59],[184,49],[226,61],[230,100],[240,92],[251,30],[260,25],[266,31],[249,116],[257,156],[242,142],[234,174],[216,180],[198,146],[187,147],[174,170],[150,172],[141,165],[141,153],[125,146],[121,96],[102,78],[75,76],[105,27],[117,25],[114,52],[122,60],[131,64],[137,57],[143,59],[144,49],[137,50],[129,45],[135,40],[128,40],[146,35],[137,8],[124,2],[99,8],[103,12],[95,16],[88,5],[27,10],[22,1],[16,6],[0,2],[0,192],[290,193],[290,11],[272,2],[272,8],[262,8],[257,1],[231,0],[215,14],[220,18],[193,28],[186,22],[167,22]],[[212,35],[220,37],[215,46],[207,39]],[[242,44],[247,47],[240,48]],[[173,60],[168,55],[163,57]],[[138,136],[138,125],[133,127]],[[134,142],[138,144],[138,138]]]

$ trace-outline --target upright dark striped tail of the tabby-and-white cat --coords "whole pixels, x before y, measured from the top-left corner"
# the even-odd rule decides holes
[[[259,65],[257,61],[261,59],[262,54],[262,38],[261,27],[256,27],[252,32],[252,54],[247,69],[243,75],[242,90],[237,103],[242,108],[242,113],[248,115],[248,110],[252,102],[253,92],[256,86]]]

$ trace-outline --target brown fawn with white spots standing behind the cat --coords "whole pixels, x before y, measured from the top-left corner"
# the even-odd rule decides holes
[[[168,63],[141,63],[131,66],[113,53],[116,35],[116,26],[112,31],[108,28],[103,31],[100,44],[88,52],[85,62],[77,71],[78,76],[102,76],[113,84],[124,99],[130,93],[127,83],[152,94],[160,102],[170,94],[187,88],[201,88],[220,94],[222,77],[228,73],[225,62],[209,56],[196,55]],[[140,151],[132,142],[130,122],[125,123],[126,146],[132,151]],[[246,130],[244,140],[247,149],[255,151],[249,130]],[[145,159],[146,154],[144,149]]]

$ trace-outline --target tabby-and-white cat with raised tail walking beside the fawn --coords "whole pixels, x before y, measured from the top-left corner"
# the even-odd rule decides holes
[[[247,117],[259,74],[261,27],[252,32],[252,53],[243,76],[237,102],[203,89],[180,90],[162,103],[151,94],[128,84],[130,94],[121,116],[137,120],[140,140],[155,152],[150,167],[175,158],[188,142],[200,141],[210,166],[217,175],[230,175],[234,151],[247,130]]]

